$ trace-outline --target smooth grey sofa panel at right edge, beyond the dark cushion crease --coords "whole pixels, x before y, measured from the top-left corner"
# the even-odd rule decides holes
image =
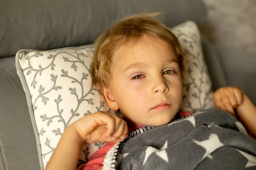
[[[256,105],[256,54],[216,47],[228,85],[237,86]]]

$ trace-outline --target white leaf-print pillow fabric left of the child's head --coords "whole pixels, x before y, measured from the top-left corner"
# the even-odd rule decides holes
[[[59,140],[56,137],[61,136],[68,125],[90,113],[102,110],[110,112],[108,106],[105,105],[101,91],[88,83],[90,82],[90,63],[93,50],[94,46],[90,45],[82,48],[24,53],[26,63],[21,65],[21,68],[28,78],[26,79],[27,83],[29,82],[28,85],[30,85],[29,91],[35,122],[40,129],[38,134],[42,145],[44,167]],[[61,64],[60,60],[62,60]],[[60,65],[63,67],[59,67]],[[44,77],[44,74],[48,74],[48,77]],[[59,79],[61,80],[59,81]],[[63,89],[63,85],[67,84],[68,88]],[[97,96],[96,101],[94,100],[95,95]],[[67,100],[72,96],[72,101]],[[69,102],[73,102],[75,105],[67,110],[67,107],[64,106]],[[50,106],[48,106],[49,103]],[[83,109],[81,109],[83,103],[90,108],[83,105]],[[51,113],[46,113],[47,110],[50,110]],[[51,143],[51,140],[55,142]],[[91,154],[104,144],[85,144],[78,167],[86,163]],[[95,148],[90,149],[93,147]]]

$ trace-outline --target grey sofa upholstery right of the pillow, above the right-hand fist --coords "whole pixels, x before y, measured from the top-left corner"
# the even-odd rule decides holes
[[[256,54],[216,47],[204,35],[202,47],[212,80],[212,90],[237,86],[256,104]]]

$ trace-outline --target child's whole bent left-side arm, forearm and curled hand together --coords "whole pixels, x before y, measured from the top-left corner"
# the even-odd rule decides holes
[[[85,142],[119,142],[127,133],[127,123],[116,115],[104,111],[86,115],[64,130],[45,170],[76,170]]]

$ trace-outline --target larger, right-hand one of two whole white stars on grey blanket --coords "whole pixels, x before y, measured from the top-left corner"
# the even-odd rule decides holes
[[[196,144],[204,147],[204,149],[206,150],[206,153],[203,156],[203,159],[207,156],[208,158],[212,159],[212,156],[210,155],[210,153],[212,153],[214,150],[218,149],[219,147],[222,147],[224,144],[220,142],[220,140],[218,139],[218,135],[216,134],[211,134],[209,136],[209,139],[205,140],[205,141],[196,141],[193,140]],[[202,159],[202,160],[203,160]]]

